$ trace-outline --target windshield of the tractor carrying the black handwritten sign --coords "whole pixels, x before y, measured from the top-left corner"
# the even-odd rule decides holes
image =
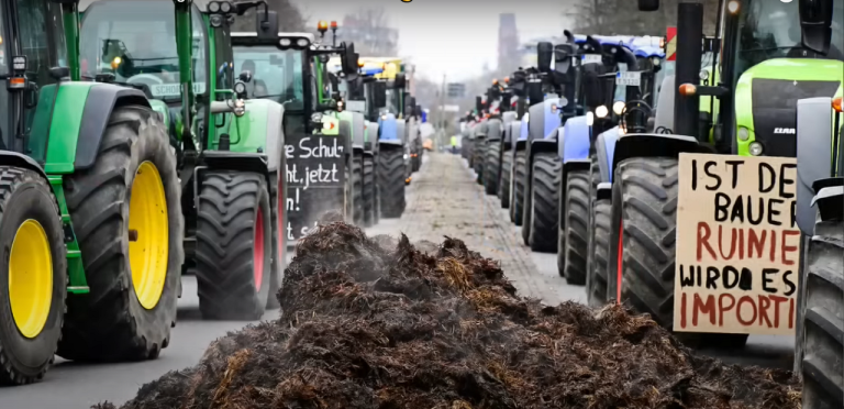
[[[246,84],[249,97],[271,99],[286,110],[303,109],[301,51],[238,45],[234,47],[234,65],[240,73],[252,74]]]

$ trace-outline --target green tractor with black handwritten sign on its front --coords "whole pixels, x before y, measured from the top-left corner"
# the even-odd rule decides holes
[[[279,121],[287,143],[288,219],[282,231],[288,244],[307,234],[327,211],[345,209],[344,218],[354,220],[357,201],[344,187],[353,181],[348,157],[355,124],[338,112],[337,78],[325,64],[330,55],[354,53],[354,48],[322,45],[310,33],[276,33],[273,38],[256,32],[233,33],[232,43],[235,65],[248,68],[241,68],[243,73],[251,70],[253,97],[285,108]],[[353,58],[344,55],[344,60],[347,57]],[[357,132],[363,132],[363,122],[359,128]],[[329,177],[309,181],[300,176],[307,169],[327,170]]]

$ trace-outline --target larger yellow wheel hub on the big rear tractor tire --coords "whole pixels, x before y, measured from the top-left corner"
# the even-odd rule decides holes
[[[167,280],[169,224],[167,198],[158,168],[137,167],[129,202],[129,264],[137,300],[146,309],[158,305]]]

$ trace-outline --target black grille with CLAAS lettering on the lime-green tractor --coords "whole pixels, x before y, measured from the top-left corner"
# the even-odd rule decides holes
[[[797,101],[832,97],[837,81],[753,80],[753,124],[766,156],[797,156]]]

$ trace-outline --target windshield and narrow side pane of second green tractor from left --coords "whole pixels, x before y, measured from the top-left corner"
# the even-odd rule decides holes
[[[114,81],[146,86],[153,97],[181,98],[176,19],[171,1],[96,2],[88,8],[80,32],[82,78],[113,74]],[[193,9],[193,91],[206,92],[206,35]]]

